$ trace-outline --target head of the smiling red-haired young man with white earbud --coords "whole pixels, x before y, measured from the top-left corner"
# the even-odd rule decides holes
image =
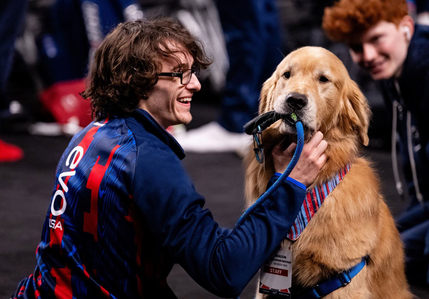
[[[341,0],[326,8],[322,26],[373,79],[401,76],[414,33],[405,0]]]

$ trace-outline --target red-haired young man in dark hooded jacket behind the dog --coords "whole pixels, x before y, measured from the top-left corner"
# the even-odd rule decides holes
[[[416,24],[405,0],[340,0],[325,9],[323,28],[350,47],[353,60],[380,80],[393,115],[392,159],[399,148],[405,192],[411,199],[397,219],[411,284],[429,283],[429,27]],[[395,172],[396,170],[396,172]]]

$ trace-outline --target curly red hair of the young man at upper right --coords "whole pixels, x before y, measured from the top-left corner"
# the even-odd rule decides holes
[[[325,8],[322,27],[333,41],[350,42],[379,21],[398,26],[407,14],[406,0],[340,0]]]

